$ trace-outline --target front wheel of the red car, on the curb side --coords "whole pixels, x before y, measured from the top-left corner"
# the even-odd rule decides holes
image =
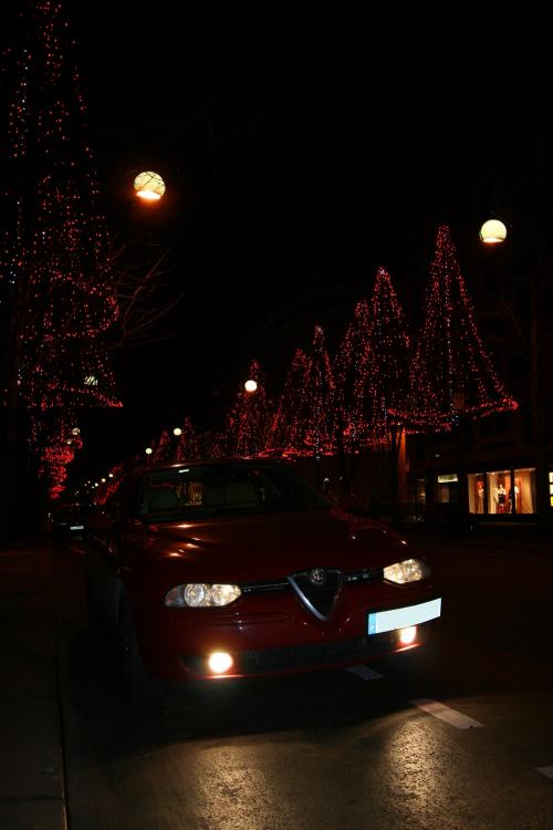
[[[129,706],[147,706],[160,701],[165,684],[154,681],[144,668],[131,611],[122,603],[118,623],[118,649],[123,696]]]

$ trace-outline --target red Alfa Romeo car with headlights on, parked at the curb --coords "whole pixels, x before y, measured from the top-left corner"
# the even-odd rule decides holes
[[[366,663],[419,646],[440,615],[399,535],[280,460],[135,470],[90,530],[91,620],[117,633],[134,701],[155,681]]]

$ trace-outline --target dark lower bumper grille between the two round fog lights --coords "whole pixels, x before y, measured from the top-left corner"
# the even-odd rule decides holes
[[[374,657],[392,647],[389,633],[358,636],[334,643],[292,645],[282,649],[258,649],[242,652],[240,670],[244,674],[332,666],[348,661]]]

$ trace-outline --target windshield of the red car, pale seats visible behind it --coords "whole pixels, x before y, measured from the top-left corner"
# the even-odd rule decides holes
[[[333,502],[285,465],[182,465],[145,473],[137,512],[143,521],[328,510]]]

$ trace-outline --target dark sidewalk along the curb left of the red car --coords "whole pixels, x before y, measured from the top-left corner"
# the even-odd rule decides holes
[[[66,830],[46,538],[0,550],[0,827]]]

